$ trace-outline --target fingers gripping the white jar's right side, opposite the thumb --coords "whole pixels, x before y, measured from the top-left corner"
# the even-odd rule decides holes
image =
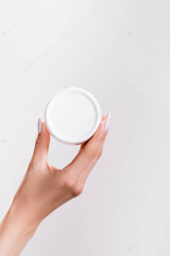
[[[82,148],[73,161],[66,167],[74,177],[79,177],[80,174],[87,168],[87,166],[93,162],[97,162],[97,159],[101,156],[99,151],[100,145],[104,142],[106,132],[104,131],[105,121],[102,121],[89,142]]]

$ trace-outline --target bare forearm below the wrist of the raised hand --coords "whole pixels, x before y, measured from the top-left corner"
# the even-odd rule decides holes
[[[11,205],[0,225],[0,256],[18,256],[34,235],[38,224]]]

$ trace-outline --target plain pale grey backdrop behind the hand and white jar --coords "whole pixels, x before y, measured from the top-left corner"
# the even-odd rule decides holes
[[[145,181],[170,157],[170,57],[145,74],[170,50],[170,1],[108,0],[83,21],[98,3],[0,1],[0,220],[27,170],[49,98],[75,86],[101,108],[114,101],[103,154],[83,194],[48,216],[21,255],[170,253],[170,165]],[[50,163],[63,168],[78,149],[51,138]]]

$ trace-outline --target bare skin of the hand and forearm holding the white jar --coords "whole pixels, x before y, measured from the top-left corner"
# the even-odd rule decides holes
[[[102,116],[93,137],[81,145],[77,156],[62,170],[44,161],[36,171],[31,172],[37,163],[43,163],[42,160],[48,156],[50,135],[42,123],[26,172],[31,175],[23,179],[0,225],[0,256],[18,256],[46,216],[82,193],[90,171],[102,154],[108,132],[105,131],[106,119],[107,114]]]

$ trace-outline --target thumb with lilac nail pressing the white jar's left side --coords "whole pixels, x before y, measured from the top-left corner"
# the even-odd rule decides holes
[[[33,158],[38,160],[43,159],[48,155],[48,148],[50,143],[50,135],[46,129],[45,123],[38,119],[38,136],[35,141],[35,148]]]

